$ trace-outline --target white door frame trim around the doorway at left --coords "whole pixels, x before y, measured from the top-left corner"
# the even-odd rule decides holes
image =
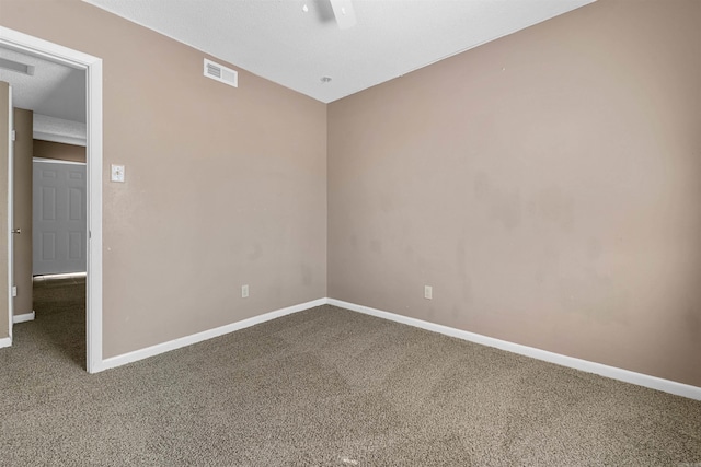
[[[85,366],[88,373],[96,373],[104,370],[102,359],[102,59],[2,26],[0,26],[0,46],[85,71],[88,106]],[[12,316],[9,318],[12,322]]]

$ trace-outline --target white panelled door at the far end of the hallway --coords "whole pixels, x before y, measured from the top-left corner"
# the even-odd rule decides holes
[[[85,164],[34,160],[32,273],[85,272]]]

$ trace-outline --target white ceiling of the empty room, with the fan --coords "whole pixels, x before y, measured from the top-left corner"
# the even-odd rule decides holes
[[[594,0],[354,0],[347,30],[329,0],[84,1],[329,103]]]

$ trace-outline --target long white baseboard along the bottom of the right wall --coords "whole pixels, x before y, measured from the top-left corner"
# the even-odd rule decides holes
[[[677,383],[675,381],[663,380],[657,376],[651,376],[643,373],[635,373],[629,370],[609,366],[601,363],[590,362],[587,360],[575,359],[574,357],[562,355],[560,353],[549,352],[547,350],[536,349],[533,347],[521,346],[506,340],[495,339],[493,337],[482,336],[448,326],[437,325],[407,316],[397,315],[394,313],[383,312],[381,310],[370,308],[368,306],[357,305],[355,303],[343,302],[341,300],[329,299],[327,304],[350,310],[353,312],[364,313],[377,316],[397,323],[418,327],[422,329],[439,332],[446,336],[456,337],[458,339],[469,340],[471,342],[481,343],[483,346],[495,347],[513,353],[530,357],[545,362],[555,363],[562,366],[581,370],[587,373],[595,373],[612,380],[648,387],[652,389],[663,390],[665,393],[675,394],[677,396],[688,397],[690,399],[701,400],[701,387],[691,386],[689,384]]]

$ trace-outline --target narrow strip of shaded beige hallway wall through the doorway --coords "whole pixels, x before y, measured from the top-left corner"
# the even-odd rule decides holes
[[[14,235],[14,297],[15,315],[32,313],[32,110],[14,109],[14,229],[22,233]]]

